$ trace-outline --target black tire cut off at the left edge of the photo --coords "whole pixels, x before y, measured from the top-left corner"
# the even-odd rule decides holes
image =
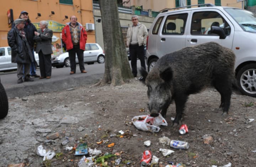
[[[0,82],[0,119],[4,118],[7,116],[8,113],[8,98],[5,92],[5,89],[2,85],[2,83]]]

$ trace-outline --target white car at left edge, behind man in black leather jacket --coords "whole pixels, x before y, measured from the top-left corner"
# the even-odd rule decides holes
[[[39,67],[39,57],[36,52],[34,52],[36,59],[36,66]],[[6,71],[11,69],[17,69],[17,63],[11,62],[11,48],[10,47],[0,47],[0,71]]]

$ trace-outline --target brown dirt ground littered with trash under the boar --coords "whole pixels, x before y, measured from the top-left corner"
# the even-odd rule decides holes
[[[84,85],[9,99],[9,114],[0,120],[0,166],[17,163],[33,167],[78,166],[82,156],[75,156],[73,150],[65,148],[83,142],[87,142],[91,149],[101,150],[102,155],[116,153],[116,156],[105,159],[105,164],[101,166],[140,166],[139,161],[145,150],[150,150],[159,158],[157,166],[166,166],[170,162],[186,167],[224,166],[229,162],[232,167],[255,166],[256,152],[252,151],[256,150],[256,120],[249,121],[256,118],[255,98],[234,92],[229,114],[222,116],[222,111],[217,111],[219,93],[213,88],[206,89],[191,95],[187,101],[182,118],[182,123],[188,126],[187,134],[180,135],[179,127],[171,126],[171,117],[175,117],[174,103],[167,111],[168,126],[161,126],[160,132],[151,133],[127,125],[134,116],[149,113],[146,89],[134,79],[113,88]],[[125,132],[123,138],[120,138],[120,130]],[[59,137],[47,140],[47,136],[55,132],[59,133]],[[213,138],[209,144],[204,144],[203,137],[206,135]],[[69,143],[63,146],[61,143],[65,137],[69,138]],[[160,144],[161,137],[186,141],[189,148],[177,150]],[[101,140],[102,144],[97,144]],[[146,140],[151,141],[149,147],[143,145]],[[110,143],[114,143],[111,148],[107,147]],[[43,162],[43,157],[36,153],[39,145],[53,150],[57,157]],[[159,152],[160,148],[175,152],[164,157]],[[115,159],[120,159],[121,163],[115,165]]]

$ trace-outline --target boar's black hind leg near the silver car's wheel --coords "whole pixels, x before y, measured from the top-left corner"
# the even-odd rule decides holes
[[[228,77],[226,77],[228,78]],[[214,83],[215,89],[220,93],[221,95],[221,102],[220,107],[223,109],[222,115],[225,115],[228,113],[229,106],[230,106],[230,99],[232,94],[232,84],[229,82],[229,80],[223,79],[221,82],[215,82]]]

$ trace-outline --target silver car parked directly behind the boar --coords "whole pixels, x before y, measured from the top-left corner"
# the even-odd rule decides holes
[[[240,90],[256,97],[256,15],[234,7],[205,5],[159,13],[148,34],[148,71],[167,53],[214,41],[234,51]]]

